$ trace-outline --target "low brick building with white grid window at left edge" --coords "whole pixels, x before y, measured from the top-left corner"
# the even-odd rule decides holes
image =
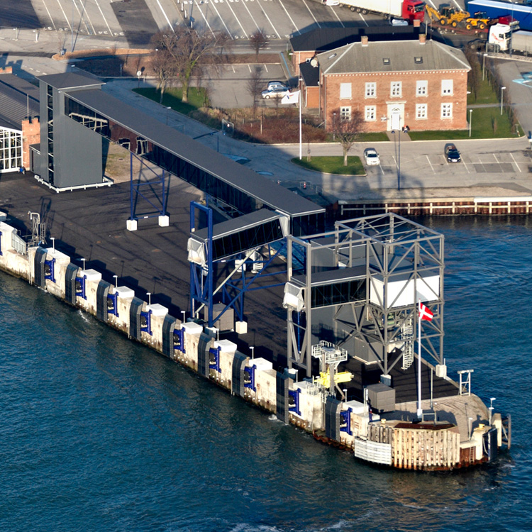
[[[31,167],[30,146],[40,141],[39,89],[0,70],[0,173]]]

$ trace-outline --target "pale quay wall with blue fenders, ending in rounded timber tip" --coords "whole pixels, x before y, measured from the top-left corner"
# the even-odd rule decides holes
[[[20,241],[16,230],[0,221],[1,270],[82,309],[318,440],[398,468],[451,469],[484,461],[481,433],[462,444],[458,431],[449,427],[425,431],[421,426],[423,434],[395,428],[377,414],[370,416],[367,406],[358,401],[338,401],[311,379],[297,382],[295,371],[279,372],[269,360],[239,353],[235,343],[218,339],[216,330],[170,316],[165,306],[135,297],[130,287],[113,286],[101,272],[75,265],[54,247],[24,248]]]

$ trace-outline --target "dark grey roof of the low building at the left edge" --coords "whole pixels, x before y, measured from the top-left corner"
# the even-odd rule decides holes
[[[13,74],[0,74],[0,126],[21,129],[29,115],[39,116],[39,91],[35,85]]]

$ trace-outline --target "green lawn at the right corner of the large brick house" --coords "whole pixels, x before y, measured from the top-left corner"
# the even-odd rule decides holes
[[[456,131],[410,131],[412,140],[460,140],[462,138],[509,138],[515,137],[508,115],[499,107],[482,107],[467,112],[471,116],[471,137],[469,130]],[[519,133],[523,134],[522,128]]]

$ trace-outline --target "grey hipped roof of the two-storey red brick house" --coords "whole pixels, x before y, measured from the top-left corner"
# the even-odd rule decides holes
[[[421,60],[416,60],[420,58]],[[350,72],[410,72],[426,70],[470,70],[462,51],[436,40],[403,40],[394,43],[368,42],[345,45],[319,54],[323,74]],[[389,60],[385,63],[384,59]]]

